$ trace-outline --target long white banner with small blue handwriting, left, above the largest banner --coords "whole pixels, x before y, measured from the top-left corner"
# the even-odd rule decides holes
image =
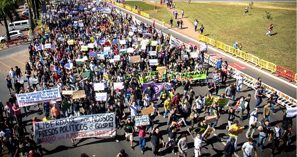
[[[58,88],[24,94],[16,94],[15,96],[20,107],[62,100]]]

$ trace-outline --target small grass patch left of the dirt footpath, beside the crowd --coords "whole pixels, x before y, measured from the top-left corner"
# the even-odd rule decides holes
[[[154,1],[154,3],[151,2],[143,2],[143,1],[125,1],[125,5],[131,6],[133,8],[134,5],[141,6],[141,11],[144,11],[145,13],[149,14],[149,17],[157,19],[157,20],[164,20],[167,24],[170,23],[170,18],[173,19],[173,26],[176,26],[176,21],[174,19],[174,16],[170,15],[170,12],[166,9],[166,5],[160,5],[157,1]],[[157,11],[153,12],[154,6],[157,5]]]

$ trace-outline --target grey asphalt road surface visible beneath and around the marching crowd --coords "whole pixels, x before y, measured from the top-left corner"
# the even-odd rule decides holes
[[[148,21],[146,19],[142,19],[144,22]],[[157,29],[160,29],[159,25],[156,25]],[[164,30],[163,32],[165,33],[170,33],[172,34],[175,38],[178,38],[184,42],[193,42],[192,40],[180,36],[178,34],[175,34],[174,32],[172,32],[171,30]],[[19,45],[19,46],[15,46],[15,47],[11,47],[9,49],[5,49],[5,50],[1,50],[0,51],[0,87],[2,90],[0,90],[0,95],[1,95],[1,101],[2,102],[6,102],[9,98],[8,95],[8,91],[6,88],[6,81],[4,81],[5,76],[8,74],[9,68],[14,66],[19,66],[22,70],[24,70],[25,68],[25,62],[28,61],[28,52],[27,52],[27,47],[28,47],[28,43],[27,44],[23,44],[23,45]],[[212,50],[209,50],[208,53],[215,53]],[[233,63],[236,62],[234,60],[232,60],[231,58],[224,58],[223,60],[227,60],[228,63]],[[210,73],[213,71],[213,68],[210,69]],[[248,75],[257,78],[258,76],[261,76],[259,73],[255,74],[255,72],[252,69],[247,69],[245,71],[245,73],[247,73]],[[261,76],[262,77],[262,76]],[[296,88],[292,88],[291,86],[282,84],[282,82],[280,81],[275,81],[265,75],[263,75],[262,77],[264,82],[270,82],[269,84],[272,85],[273,87],[275,86],[275,88],[280,89],[281,91],[286,91],[286,94],[290,94],[290,95],[295,95],[296,96]],[[234,82],[235,79],[228,79],[227,80],[227,84],[228,83],[232,83]],[[25,86],[27,85],[27,82],[25,82]],[[246,86],[244,86],[243,88],[245,88]],[[225,86],[221,86],[221,89],[219,91],[219,93],[223,93],[224,89],[226,87]],[[207,91],[207,87],[206,86],[202,86],[202,88],[199,88],[198,86],[194,86],[194,91],[196,92],[196,95],[205,95],[206,91]],[[182,93],[182,87],[179,87],[177,92]],[[254,90],[251,89],[246,89],[243,90],[243,92],[237,94],[237,98],[239,98],[241,95],[247,96],[247,94],[251,94],[253,95]],[[295,94],[294,94],[295,93]],[[264,99],[265,100],[265,99]],[[159,102],[155,102],[156,104],[159,104]],[[251,99],[250,101],[250,106],[253,107],[255,103],[254,99]],[[263,101],[263,103],[261,104],[261,107],[259,109],[259,118],[262,117],[262,110],[263,110],[263,106],[266,104],[265,101]],[[234,106],[234,105],[233,105]],[[163,107],[159,106],[159,110],[160,113],[163,114]],[[127,109],[126,109],[127,110]],[[225,108],[226,110],[226,108]],[[43,118],[44,114],[41,112],[42,110],[37,111],[37,107],[31,107],[31,113],[27,118],[23,118],[24,123],[27,125],[27,130],[29,130],[29,126],[32,125],[32,118],[33,116],[37,116],[38,118]],[[280,123],[282,121],[282,117],[285,113],[285,109],[282,106],[277,106],[276,107],[276,111],[277,111],[277,115],[271,115],[271,126],[275,126],[276,124]],[[204,116],[203,114],[201,114],[201,116]],[[211,133],[211,136],[209,137],[209,142],[206,144],[203,144],[203,149],[202,149],[202,155],[204,157],[222,157],[223,156],[223,147],[224,144],[223,142],[226,142],[226,140],[228,139],[228,134],[227,131],[224,129],[227,125],[227,114],[223,114],[221,116],[221,118],[218,121],[218,125],[216,127],[216,131]],[[238,117],[236,117],[236,119],[239,120]],[[161,133],[162,134],[166,134],[165,133],[165,129],[166,129],[166,122],[167,119],[163,118],[163,117],[157,117],[155,118],[155,127],[158,126],[160,127]],[[190,118],[188,118],[188,125],[190,125]],[[291,141],[291,146],[289,149],[289,156],[288,157],[295,157],[296,156],[296,118],[293,120],[294,126],[293,126],[293,136],[291,137],[292,141]],[[243,145],[244,142],[247,141],[247,138],[245,137],[245,133],[247,131],[247,124],[248,124],[248,120],[247,120],[247,115],[244,115],[244,123],[240,122],[241,125],[245,126],[246,129],[244,130],[243,134],[239,135],[239,139],[238,139],[238,156],[239,157],[243,157],[242,152],[239,150],[241,148],[241,146]],[[181,137],[181,134],[183,133],[187,133],[186,131],[187,127],[183,126],[182,129],[180,131],[178,131],[178,138]],[[90,157],[116,157],[116,155],[119,153],[119,151],[121,149],[125,149],[126,152],[130,155],[130,157],[141,157],[141,156],[147,156],[147,157],[151,157],[153,156],[152,152],[150,151],[150,143],[149,143],[149,139],[147,138],[147,146],[146,146],[146,152],[145,155],[142,155],[140,152],[140,148],[138,145],[138,132],[134,133],[134,146],[135,147],[135,151],[132,151],[130,149],[130,144],[125,142],[125,137],[124,137],[124,131],[123,129],[118,130],[117,132],[118,134],[118,139],[120,140],[119,143],[116,143],[114,141],[114,138],[110,138],[110,137],[106,137],[106,138],[86,138],[86,139],[78,139],[75,141],[75,143],[77,144],[77,147],[72,147],[72,143],[71,141],[67,140],[67,141],[62,141],[62,142],[56,142],[53,144],[45,144],[43,145],[43,151],[44,151],[44,155],[48,156],[48,157],[62,157],[62,156],[71,156],[71,157],[79,157],[81,153],[87,153]],[[255,140],[257,140],[258,136],[258,131],[256,131],[254,138]],[[148,137],[148,135],[147,135]],[[163,138],[165,140],[165,142],[168,141],[167,139],[167,135],[163,135]],[[194,156],[194,143],[193,140],[190,138],[190,136],[188,136],[188,144],[189,144],[189,150],[188,150],[188,156],[192,157]],[[222,141],[223,142],[222,142]],[[264,147],[264,152],[260,152],[259,148],[257,148],[258,150],[258,157],[264,157],[264,156],[270,156],[270,151],[269,151],[269,146],[270,146],[270,142],[268,142],[268,140],[265,143],[265,147]],[[177,148],[175,148],[177,151]],[[171,149],[165,149],[165,148],[161,148],[160,149],[161,154],[165,157],[174,157],[174,155],[171,153]],[[280,157],[280,156],[285,156],[284,153],[278,153],[276,157]]]

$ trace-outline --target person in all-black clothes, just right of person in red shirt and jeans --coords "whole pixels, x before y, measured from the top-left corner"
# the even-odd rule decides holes
[[[151,151],[152,153],[154,154],[154,156],[158,156],[159,153],[159,144],[160,144],[160,139],[163,143],[163,147],[165,146],[165,143],[164,143],[164,140],[163,140],[163,137],[160,133],[160,129],[159,128],[153,128],[151,130],[151,139],[150,139],[150,144],[151,144]]]

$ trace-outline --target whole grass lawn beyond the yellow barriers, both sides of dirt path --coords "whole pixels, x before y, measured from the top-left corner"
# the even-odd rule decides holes
[[[173,16],[165,5],[142,1],[125,1],[131,6],[141,5],[150,17],[169,23]],[[177,1],[177,10],[185,10],[185,16],[191,22],[195,19],[203,24],[204,35],[228,45],[238,42],[243,50],[260,59],[275,63],[296,72],[297,58],[297,12],[296,2],[254,2],[249,9],[250,16],[243,16],[249,2],[181,2]],[[153,12],[157,5],[159,12]],[[265,20],[265,10],[272,15],[272,20]],[[272,34],[267,37],[267,29],[274,24]]]

